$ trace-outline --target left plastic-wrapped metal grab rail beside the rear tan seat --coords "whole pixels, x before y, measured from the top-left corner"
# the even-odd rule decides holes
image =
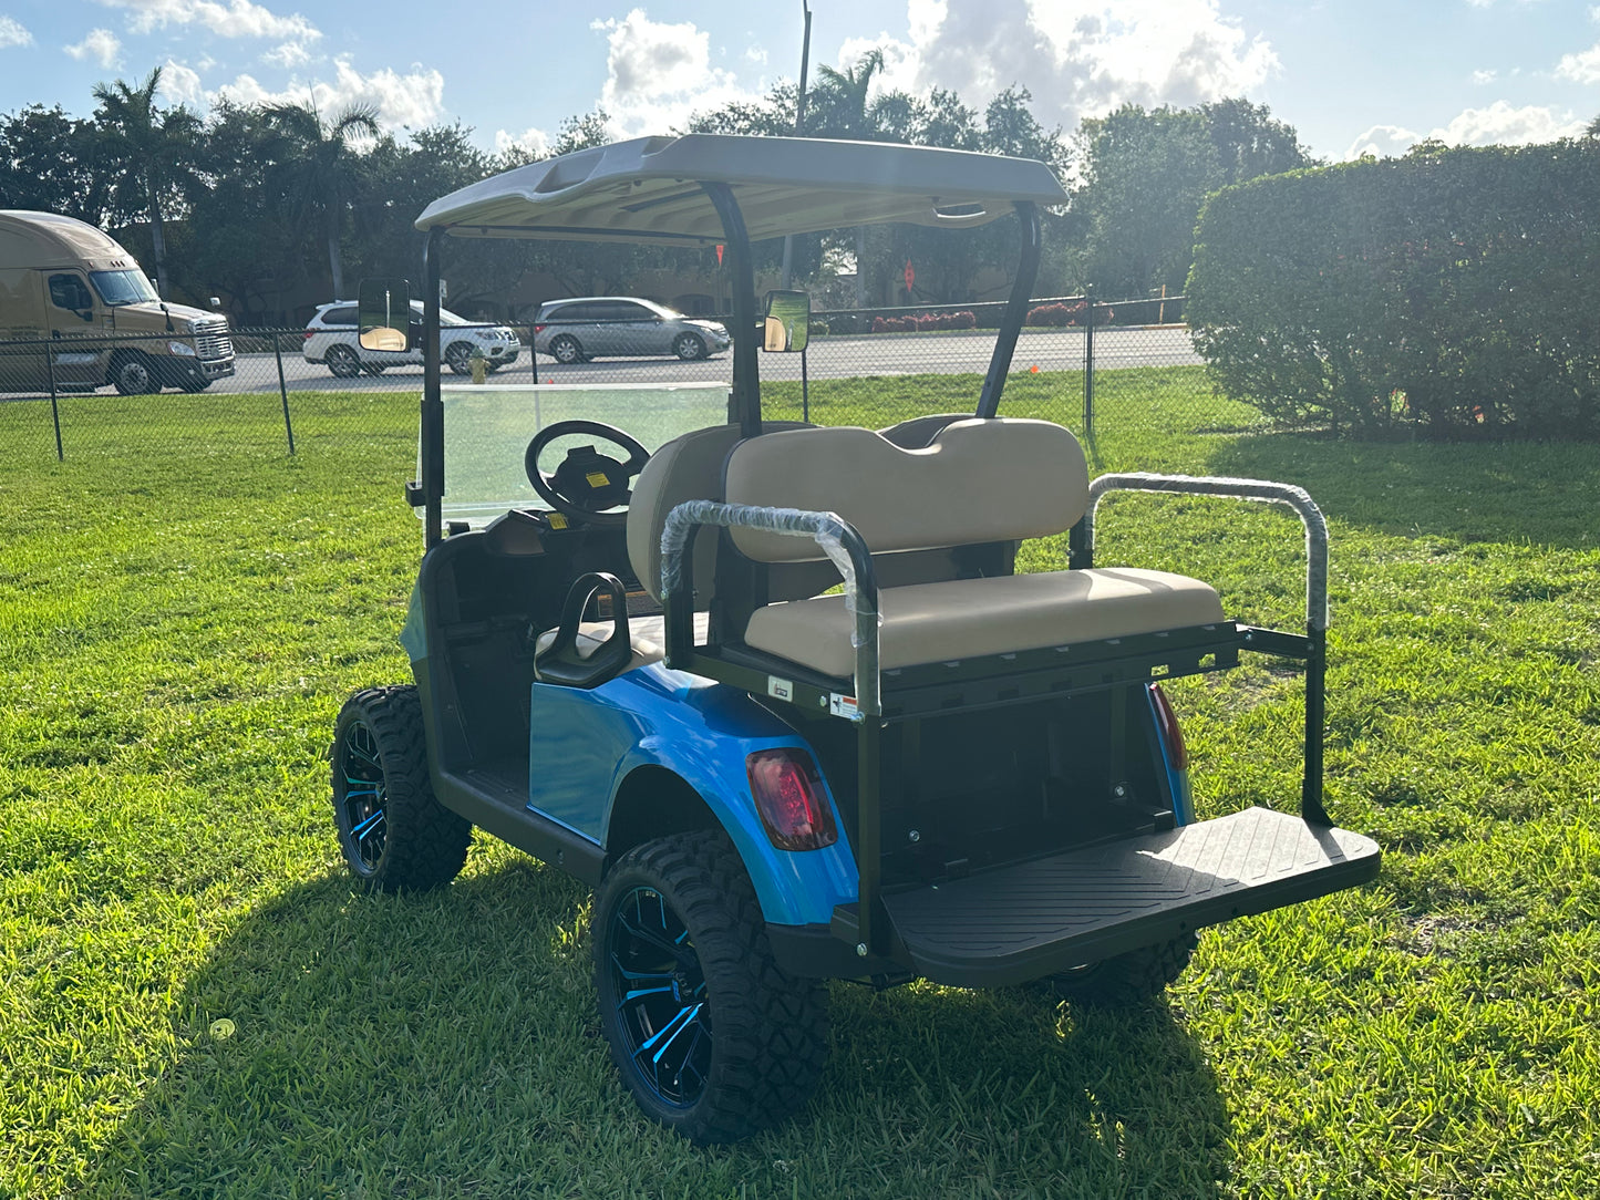
[[[851,643],[856,650],[853,720],[882,715],[878,699],[878,582],[872,552],[856,528],[834,512],[770,509],[752,504],[685,501],[667,514],[661,531],[661,597],[666,606],[667,666],[680,666],[693,643],[694,534],[706,525],[766,530],[792,538],[811,538],[845,579],[845,608],[854,614]],[[680,662],[674,662],[674,658]]]

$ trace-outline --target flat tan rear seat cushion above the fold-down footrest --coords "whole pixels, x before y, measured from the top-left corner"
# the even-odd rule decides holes
[[[1134,568],[885,587],[878,610],[882,670],[1222,621],[1222,603],[1208,584]],[[758,608],[744,642],[848,678],[856,664],[853,630],[845,597],[822,595]]]

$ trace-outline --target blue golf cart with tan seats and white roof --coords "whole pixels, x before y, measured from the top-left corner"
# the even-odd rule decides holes
[[[414,685],[339,715],[344,854],[381,890],[461,870],[474,826],[592,885],[600,1022],[624,1083],[694,1142],[782,1120],[827,1046],[827,979],[1038,984],[1136,1003],[1195,931],[1378,872],[1322,803],[1326,528],[1298,488],[1088,477],[1061,426],[1000,416],[1040,258],[1040,163],[693,134],[619,142],[432,203],[424,328],[368,282],[363,338],[427,352],[408,498],[426,554]],[[763,421],[750,243],[870,222],[1014,218],[1021,262],[971,413],[883,430]],[[442,386],[456,237],[723,243],[723,384]],[[800,320],[800,330],[805,322]],[[392,333],[382,333],[390,330]],[[1096,568],[1112,490],[1293,507],[1306,629],[1224,616],[1208,584]],[[1018,544],[1070,531],[1064,570]],[[842,587],[840,587],[842,586]],[[1299,813],[1197,821],[1155,680],[1243,651],[1306,664]]]

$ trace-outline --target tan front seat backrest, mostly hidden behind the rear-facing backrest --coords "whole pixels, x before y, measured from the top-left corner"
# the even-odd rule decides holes
[[[808,426],[768,421],[766,429]],[[656,600],[661,600],[661,530],[667,514],[683,501],[722,499],[722,467],[738,440],[738,426],[696,429],[661,446],[634,480],[634,499],[627,506],[627,560]],[[717,531],[707,530],[694,539],[694,606],[701,611],[710,606],[715,565]]]

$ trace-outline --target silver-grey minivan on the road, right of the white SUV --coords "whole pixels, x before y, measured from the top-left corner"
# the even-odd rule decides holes
[[[691,362],[726,350],[728,344],[728,331],[717,322],[629,296],[547,301],[533,320],[533,349],[558,363],[642,354],[675,354]]]

